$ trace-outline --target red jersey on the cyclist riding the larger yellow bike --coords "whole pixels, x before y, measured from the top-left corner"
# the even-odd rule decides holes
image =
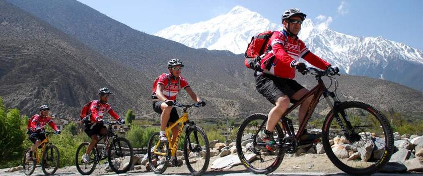
[[[170,78],[170,84],[169,84],[169,77],[167,76],[166,73],[163,73],[159,77],[157,84],[164,85],[164,89],[163,89],[162,93],[166,97],[166,99],[175,101],[176,96],[179,93],[179,87],[182,88],[182,89],[185,89],[187,86],[189,86],[189,83],[182,76],[179,76],[179,77],[176,77],[176,78],[174,78],[174,76],[170,76],[170,77],[171,78]],[[178,85],[178,82],[180,82],[180,85]],[[168,84],[169,84],[169,86],[168,86]]]

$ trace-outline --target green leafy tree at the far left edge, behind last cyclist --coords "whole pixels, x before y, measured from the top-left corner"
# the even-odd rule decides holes
[[[0,167],[16,165],[23,155],[25,132],[20,116],[17,109],[10,109],[6,114],[3,99],[0,98]]]

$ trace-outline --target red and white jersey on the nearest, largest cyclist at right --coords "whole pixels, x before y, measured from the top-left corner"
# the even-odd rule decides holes
[[[285,34],[284,31],[275,31],[270,37],[267,45],[271,46],[271,51],[261,60],[261,69],[264,72],[293,79],[295,77],[294,64],[300,57],[323,70],[330,66],[328,62],[310,52],[298,37],[286,38]]]

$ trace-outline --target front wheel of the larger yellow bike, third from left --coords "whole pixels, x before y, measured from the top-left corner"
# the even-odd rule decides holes
[[[201,127],[188,127],[183,150],[188,170],[193,175],[203,174],[210,161],[210,148],[207,135]]]

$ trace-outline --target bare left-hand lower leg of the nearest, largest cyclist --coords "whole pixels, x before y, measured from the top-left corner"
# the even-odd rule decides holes
[[[273,131],[280,117],[285,113],[290,105],[290,98],[286,95],[277,98],[274,106],[267,117],[266,130]]]

